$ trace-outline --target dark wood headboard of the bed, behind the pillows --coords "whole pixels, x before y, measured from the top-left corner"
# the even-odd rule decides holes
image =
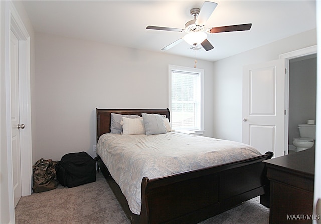
[[[99,109],[96,108],[97,115],[97,142],[101,135],[110,133],[110,120],[111,113],[127,114],[127,115],[139,115],[142,113],[147,114],[161,114],[166,115],[170,120],[170,110],[167,109]]]

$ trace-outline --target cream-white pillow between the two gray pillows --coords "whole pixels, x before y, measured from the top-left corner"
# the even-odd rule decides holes
[[[139,135],[145,134],[145,126],[142,118],[122,118],[122,134],[123,135]]]

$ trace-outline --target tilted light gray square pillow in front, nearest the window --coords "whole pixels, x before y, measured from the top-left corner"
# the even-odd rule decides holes
[[[146,135],[167,133],[164,120],[161,115],[144,113],[142,113],[141,115],[144,119]]]

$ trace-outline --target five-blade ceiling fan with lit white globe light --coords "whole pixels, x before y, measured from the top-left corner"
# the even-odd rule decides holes
[[[212,28],[206,29],[205,23],[210,18],[216,6],[217,6],[217,3],[205,1],[201,9],[200,8],[191,9],[190,13],[194,17],[194,19],[188,21],[185,24],[185,29],[158,27],[158,26],[147,26],[146,29],[187,33],[183,38],[180,38],[174,41],[168,46],[162,48],[162,50],[168,50],[184,40],[188,44],[194,45],[194,46],[201,44],[206,51],[209,51],[214,48],[213,45],[206,39],[208,33],[245,31],[245,30],[251,29],[251,26],[252,26],[251,23],[230,25],[230,26],[223,26],[223,27],[212,27]]]

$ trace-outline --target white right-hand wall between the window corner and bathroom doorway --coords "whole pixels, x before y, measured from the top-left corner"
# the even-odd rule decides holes
[[[213,136],[242,141],[242,72],[244,65],[271,61],[280,54],[316,45],[310,30],[213,63]]]

